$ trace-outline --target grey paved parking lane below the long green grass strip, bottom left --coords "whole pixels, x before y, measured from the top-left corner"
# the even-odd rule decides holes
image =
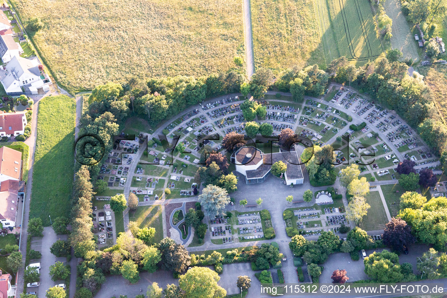
[[[67,264],[66,257],[56,258],[56,256],[50,252],[51,245],[53,245],[53,243],[55,243],[58,239],[66,240],[67,235],[56,235],[52,227],[45,227],[43,228],[43,238],[34,237],[31,241],[31,248],[42,253],[42,258],[38,260],[41,266],[40,286],[35,290],[38,293],[38,297],[45,297],[46,290],[52,286],[59,283],[65,283],[64,281],[52,281],[50,277],[50,266],[52,264],[57,261]],[[72,286],[76,286],[76,284]],[[30,290],[32,289],[28,289],[27,291]]]

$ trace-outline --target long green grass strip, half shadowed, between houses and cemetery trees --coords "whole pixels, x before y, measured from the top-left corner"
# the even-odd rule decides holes
[[[33,193],[30,218],[69,217],[74,175],[76,104],[65,95],[45,97],[39,103]]]

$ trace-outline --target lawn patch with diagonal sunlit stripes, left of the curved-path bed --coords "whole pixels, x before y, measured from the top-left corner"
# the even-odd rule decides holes
[[[155,236],[152,243],[159,243],[163,239],[163,219],[160,205],[139,206],[135,212],[129,212],[129,220],[136,222],[139,228],[154,227]],[[135,231],[132,231],[134,233]]]

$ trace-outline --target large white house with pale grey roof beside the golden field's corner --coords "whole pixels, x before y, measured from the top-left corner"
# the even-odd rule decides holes
[[[43,76],[37,59],[25,59],[14,56],[11,61],[0,71],[0,82],[8,95],[23,94],[22,88],[28,88],[32,94],[37,94],[38,88],[48,90],[48,84],[44,86]]]

